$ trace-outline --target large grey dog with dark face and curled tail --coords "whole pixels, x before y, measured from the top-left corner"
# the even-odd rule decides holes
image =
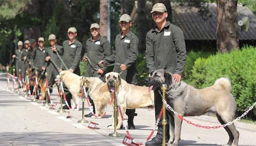
[[[228,78],[219,78],[210,87],[196,89],[183,81],[176,83],[172,73],[161,69],[153,72],[147,81],[150,84],[150,90],[160,90],[161,84],[167,84],[167,104],[181,116],[200,116],[211,112],[216,114],[221,124],[226,124],[234,119],[237,105],[230,93],[231,83]],[[168,146],[176,146],[180,140],[182,120],[173,112],[167,112],[167,114],[170,123]],[[227,144],[233,143],[237,146],[239,132],[234,123],[224,128],[229,134]]]

